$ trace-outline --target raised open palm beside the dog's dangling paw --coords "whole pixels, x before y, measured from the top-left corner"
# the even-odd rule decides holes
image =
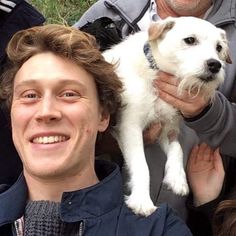
[[[205,143],[195,146],[188,159],[187,176],[195,206],[217,198],[225,176],[219,149],[213,151]]]

